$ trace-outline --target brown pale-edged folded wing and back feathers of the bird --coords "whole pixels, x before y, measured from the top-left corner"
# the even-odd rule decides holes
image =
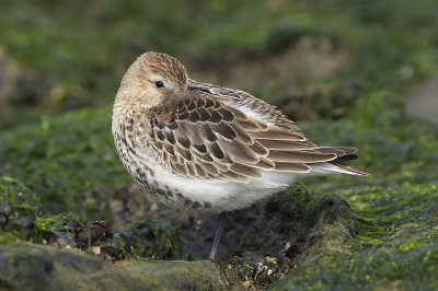
[[[251,98],[242,91],[194,81],[188,89],[180,101],[164,101],[147,113],[153,132],[151,149],[175,174],[247,182],[263,178],[262,170],[307,173],[312,163],[356,152],[348,147],[318,147],[270,105],[264,104],[272,109],[268,116],[266,109],[258,118],[245,114],[235,106]],[[253,105],[260,102],[253,100]],[[273,116],[278,123],[263,120]]]

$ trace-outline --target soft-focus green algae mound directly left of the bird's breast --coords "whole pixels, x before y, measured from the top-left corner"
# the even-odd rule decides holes
[[[0,170],[38,193],[49,213],[107,219],[114,187],[129,182],[113,144],[110,107],[43,118],[2,132]]]

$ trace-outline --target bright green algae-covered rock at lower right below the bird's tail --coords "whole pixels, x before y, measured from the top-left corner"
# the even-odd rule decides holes
[[[303,187],[291,189],[286,196],[304,200],[303,211],[310,209],[313,213],[310,218],[320,216],[315,209],[321,209],[324,196],[309,195]],[[312,196],[313,199],[309,198]],[[319,240],[302,260],[272,289],[433,290],[436,287],[438,191],[435,184],[405,183],[397,188],[372,187],[339,196],[349,201],[351,211],[344,211],[351,216],[334,209],[341,212],[337,216],[341,219],[325,232],[318,233]]]

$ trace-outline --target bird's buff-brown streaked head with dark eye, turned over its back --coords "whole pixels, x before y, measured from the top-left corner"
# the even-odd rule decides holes
[[[116,102],[153,107],[187,90],[187,73],[174,57],[148,51],[137,58],[122,80]]]

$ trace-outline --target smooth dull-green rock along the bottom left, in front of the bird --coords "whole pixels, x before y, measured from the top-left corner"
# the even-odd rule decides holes
[[[0,289],[7,290],[228,290],[211,261],[127,260],[99,257],[51,246],[0,245]]]

